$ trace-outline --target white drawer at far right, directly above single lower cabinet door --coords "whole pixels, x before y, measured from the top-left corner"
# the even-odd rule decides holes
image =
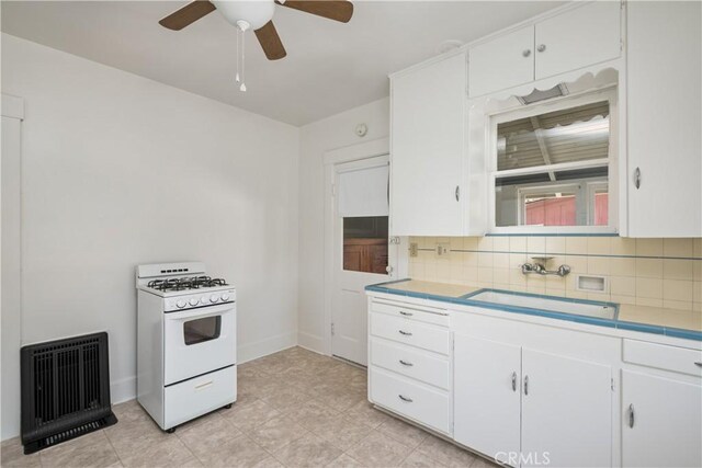
[[[624,340],[624,362],[702,376],[702,351],[700,350]]]

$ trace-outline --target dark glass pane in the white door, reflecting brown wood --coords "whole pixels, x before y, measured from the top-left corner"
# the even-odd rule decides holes
[[[387,273],[387,216],[343,218],[343,270]]]

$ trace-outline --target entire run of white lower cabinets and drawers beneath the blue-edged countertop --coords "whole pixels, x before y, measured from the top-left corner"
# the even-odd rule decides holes
[[[702,467],[699,343],[440,306],[371,298],[373,403],[512,467]]]

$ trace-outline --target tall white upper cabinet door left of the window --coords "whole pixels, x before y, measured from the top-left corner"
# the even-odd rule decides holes
[[[464,54],[393,79],[393,236],[463,233],[465,89]]]

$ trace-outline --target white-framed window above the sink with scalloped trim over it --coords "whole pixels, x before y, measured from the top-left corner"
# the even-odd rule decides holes
[[[614,231],[612,90],[492,116],[494,230]]]

